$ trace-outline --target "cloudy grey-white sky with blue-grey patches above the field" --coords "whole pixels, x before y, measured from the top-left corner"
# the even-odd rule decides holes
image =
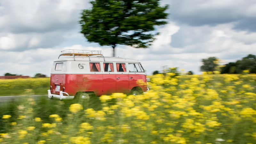
[[[140,60],[152,74],[162,66],[200,74],[201,60],[226,62],[256,54],[255,0],[163,0],[169,4],[169,24],[148,49],[118,46],[116,56]],[[112,48],[88,43],[78,21],[89,0],[0,0],[0,75],[9,72],[50,76],[61,50]]]

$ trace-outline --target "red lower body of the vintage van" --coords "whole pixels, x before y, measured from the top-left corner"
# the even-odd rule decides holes
[[[133,79],[129,79],[133,77]],[[137,80],[146,82],[146,76],[140,74],[51,74],[52,94],[60,94],[55,91],[56,85],[60,85],[60,91],[65,91],[70,96],[75,96],[76,92],[94,92],[95,95],[112,94],[115,92],[129,94],[133,87],[139,86],[142,91],[147,90],[147,86],[137,83]]]

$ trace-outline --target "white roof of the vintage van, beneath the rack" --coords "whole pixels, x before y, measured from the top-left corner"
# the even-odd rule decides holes
[[[104,61],[104,57],[102,56],[90,56],[90,59],[88,56],[69,56],[65,58],[60,58],[58,60],[55,60],[54,62],[57,61]],[[105,61],[109,62],[139,62],[139,60],[133,60],[133,59],[126,59],[126,58],[121,58],[121,57],[105,57]]]

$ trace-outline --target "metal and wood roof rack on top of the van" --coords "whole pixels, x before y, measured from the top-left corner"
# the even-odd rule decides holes
[[[92,56],[92,55],[103,56],[101,54],[101,51],[88,51],[88,50],[64,50],[64,51],[61,51],[60,56],[62,56],[62,55],[65,55],[65,56],[72,56],[73,55],[74,60],[76,60],[75,56],[88,56],[90,61],[91,61],[90,56]],[[60,56],[59,56],[59,58],[60,58]],[[104,61],[105,61],[104,56],[103,56],[103,58],[104,58]]]

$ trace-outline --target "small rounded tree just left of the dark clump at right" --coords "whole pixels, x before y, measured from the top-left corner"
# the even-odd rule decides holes
[[[208,59],[203,59],[203,65],[201,66],[200,70],[206,72],[213,72],[218,66],[217,61],[218,59],[216,57],[209,57]]]

